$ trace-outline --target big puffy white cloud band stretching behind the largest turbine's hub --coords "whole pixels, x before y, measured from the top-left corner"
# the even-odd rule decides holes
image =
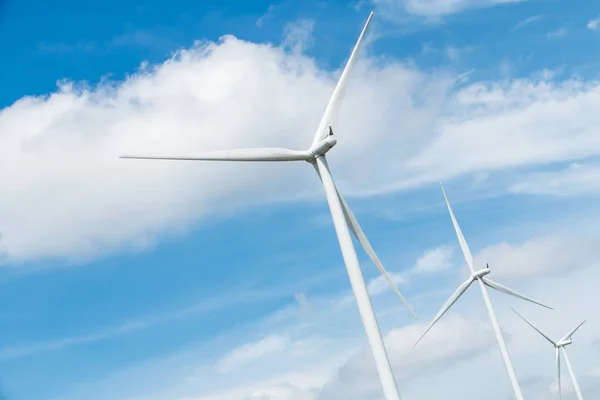
[[[314,171],[302,163],[117,158],[306,148],[337,73],[320,70],[301,47],[286,48],[227,36],[142,66],[124,82],[63,83],[0,111],[0,254],[13,262],[85,260],[146,248],[209,214],[322,200]],[[597,82],[542,77],[463,82],[449,91],[453,82],[363,59],[330,157],[342,192],[372,195],[600,154]],[[367,155],[369,162],[355,162]]]

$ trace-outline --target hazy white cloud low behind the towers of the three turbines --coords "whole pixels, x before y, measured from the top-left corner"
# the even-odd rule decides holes
[[[562,242],[575,241],[576,238],[566,237]],[[538,245],[528,244],[531,242]],[[584,394],[594,398],[600,394],[598,378],[594,378],[594,373],[597,373],[594,371],[598,368],[598,350],[594,343],[600,340],[598,335],[600,320],[594,317],[597,314],[595,304],[600,301],[600,295],[596,290],[600,279],[598,263],[596,261],[580,267],[577,264],[580,259],[577,255],[581,251],[580,248],[561,246],[558,241],[544,238],[511,246],[511,251],[520,255],[519,262],[535,259],[540,248],[543,247],[539,243],[546,243],[547,247],[558,246],[563,254],[556,263],[567,264],[561,268],[569,270],[569,273],[560,276],[537,273],[535,279],[522,280],[522,287],[518,289],[534,298],[550,302],[556,310],[542,310],[508,296],[497,294],[491,296],[498,320],[505,332],[517,375],[527,398],[542,400],[552,395],[555,376],[552,347],[514,315],[507,305],[516,307],[536,325],[557,337],[564,335],[582,319],[587,318],[588,322],[574,337],[573,345],[569,346],[569,355],[578,376],[581,377],[580,383]],[[531,254],[526,254],[527,252]],[[511,257],[515,258],[514,255]],[[511,257],[504,259],[508,261]],[[549,266],[549,268],[554,267]],[[429,318],[453,289],[454,287],[448,287],[447,293],[439,294],[439,299],[422,304],[417,312],[423,319],[418,323],[413,323],[408,316],[405,320],[410,322],[398,322],[398,313],[395,311],[402,305],[392,300],[393,293],[387,292],[383,295],[389,296],[389,302],[385,303],[385,307],[389,308],[378,310],[378,319],[382,327],[391,327],[391,329],[383,328],[383,331],[387,332],[385,340],[400,392],[403,397],[423,400],[439,399],[443,396],[506,399],[510,396],[510,384],[479,293],[466,293],[465,297],[456,303],[419,346],[413,349],[413,344],[423,332]],[[220,346],[227,348],[218,351],[219,356],[215,362],[210,362],[210,358],[207,358],[210,356],[206,355],[214,355],[215,344],[203,343],[205,348],[211,349],[208,353],[194,348],[182,349],[180,356],[166,361],[159,360],[150,369],[137,367],[128,373],[119,372],[109,380],[81,386],[71,396],[64,396],[64,398],[90,400],[377,398],[380,390],[379,383],[354,304],[340,307],[336,298],[315,298],[311,299],[311,303],[314,307],[309,314],[303,314],[302,318],[295,317],[300,316],[296,310],[288,312],[286,318],[278,315],[273,319],[277,321],[276,325],[264,325],[263,321],[255,328],[261,331],[269,329],[272,332],[263,335],[264,338],[285,337],[287,343],[285,346],[282,345],[284,341],[280,339],[271,341],[271,345],[265,344],[269,342],[266,339],[258,342],[244,341],[242,340],[246,336],[244,332],[248,330],[236,327],[235,337],[225,334],[216,341]],[[389,310],[393,312],[388,312]],[[286,334],[282,336],[279,332],[284,331]],[[265,351],[265,349],[276,349],[276,351]],[[215,368],[215,365],[219,365],[230,354],[246,353],[251,353],[252,357],[239,358],[243,361],[237,364],[240,368],[220,371]],[[200,366],[198,360],[204,360],[200,361]],[[470,377],[473,376],[477,376],[478,379],[472,380]],[[160,377],[160,379],[152,377]]]

